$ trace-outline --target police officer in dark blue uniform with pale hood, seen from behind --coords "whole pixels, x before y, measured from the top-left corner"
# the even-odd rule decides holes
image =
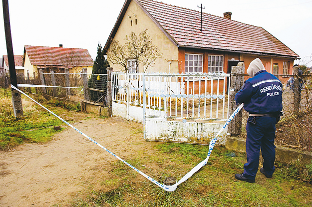
[[[259,58],[250,63],[247,73],[251,78],[245,81],[242,89],[235,95],[236,103],[244,103],[244,109],[249,112],[246,126],[247,163],[244,165],[244,172],[235,174],[235,178],[254,183],[259,167],[260,149],[264,160],[260,172],[267,178],[272,178],[275,170],[275,124],[283,108],[283,84],[266,71]]]

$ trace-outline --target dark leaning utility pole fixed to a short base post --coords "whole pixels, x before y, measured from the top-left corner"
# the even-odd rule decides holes
[[[3,7],[3,20],[4,20],[4,31],[5,31],[9,74],[10,74],[11,84],[17,88],[17,79],[16,79],[14,53],[13,53],[12,36],[11,36],[11,26],[10,26],[10,18],[9,18],[9,13],[8,13],[7,0],[2,0],[2,7]],[[23,115],[23,107],[21,104],[20,93],[18,93],[13,88],[11,88],[11,90],[12,90],[12,103],[13,103],[14,116],[20,117]]]

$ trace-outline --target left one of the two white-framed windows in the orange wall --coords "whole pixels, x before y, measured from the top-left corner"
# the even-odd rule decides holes
[[[203,72],[203,55],[185,54],[185,73],[202,73]]]

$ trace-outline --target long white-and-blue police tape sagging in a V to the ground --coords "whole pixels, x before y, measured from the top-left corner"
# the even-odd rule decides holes
[[[73,128],[75,131],[77,131],[78,133],[80,133],[81,135],[83,135],[84,137],[86,137],[87,139],[89,139],[91,142],[93,142],[94,144],[96,144],[97,146],[99,146],[100,148],[104,149],[106,152],[108,152],[109,154],[111,154],[112,156],[114,156],[115,158],[117,158],[118,160],[120,160],[121,162],[123,162],[124,164],[126,164],[127,166],[129,166],[130,168],[132,168],[133,170],[135,170],[136,172],[138,172],[139,174],[141,174],[143,177],[145,177],[147,180],[151,181],[152,183],[154,183],[155,185],[157,185],[158,187],[162,188],[165,191],[168,192],[173,192],[177,189],[177,187],[185,182],[187,179],[189,179],[194,173],[196,173],[198,170],[200,170],[202,167],[204,167],[207,162],[208,159],[211,155],[211,152],[216,144],[216,141],[218,139],[218,136],[221,134],[221,132],[228,126],[228,124],[234,119],[234,117],[238,114],[238,112],[243,108],[243,104],[241,104],[239,107],[237,107],[237,109],[233,112],[233,114],[230,116],[230,118],[225,122],[225,124],[222,126],[222,128],[220,129],[220,131],[217,133],[217,135],[214,137],[214,139],[212,139],[210,141],[209,144],[209,151],[207,154],[207,158],[205,160],[203,160],[202,162],[200,162],[199,164],[197,164],[190,172],[188,172],[185,176],[183,176],[176,184],[172,185],[172,186],[167,186],[164,184],[161,184],[157,181],[155,181],[154,179],[152,179],[151,177],[149,177],[148,175],[146,175],[145,173],[141,172],[140,170],[138,170],[137,168],[133,167],[132,165],[130,165],[129,163],[127,163],[126,161],[124,161],[123,159],[121,159],[120,157],[118,157],[117,155],[115,155],[114,153],[112,153],[111,151],[109,151],[108,149],[106,149],[105,147],[103,147],[102,145],[100,145],[99,143],[97,143],[95,140],[91,139],[90,137],[88,137],[86,134],[84,134],[83,132],[81,132],[80,130],[78,130],[77,128],[75,128],[74,126],[72,126],[71,124],[69,124],[68,122],[66,122],[64,119],[62,119],[61,117],[57,116],[56,114],[54,114],[52,111],[50,111],[49,109],[47,109],[46,107],[44,107],[43,105],[41,105],[40,103],[38,103],[37,101],[35,101],[34,99],[32,99],[31,97],[29,97],[27,94],[25,94],[24,92],[22,92],[21,90],[19,90],[18,88],[16,88],[15,86],[11,85],[11,87],[15,90],[17,90],[18,92],[22,93],[23,95],[25,95],[26,97],[28,97],[29,99],[31,99],[32,101],[34,101],[36,104],[38,104],[39,106],[41,106],[42,108],[44,108],[45,110],[47,110],[49,113],[51,113],[52,115],[54,115],[55,117],[57,117],[58,119],[60,119],[62,122],[64,122],[65,124],[67,124],[68,126],[70,126],[71,128]]]

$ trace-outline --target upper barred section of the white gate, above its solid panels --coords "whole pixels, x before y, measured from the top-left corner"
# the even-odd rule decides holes
[[[113,101],[143,107],[147,116],[226,120],[230,74],[112,73]],[[143,96],[143,88],[147,96]]]

